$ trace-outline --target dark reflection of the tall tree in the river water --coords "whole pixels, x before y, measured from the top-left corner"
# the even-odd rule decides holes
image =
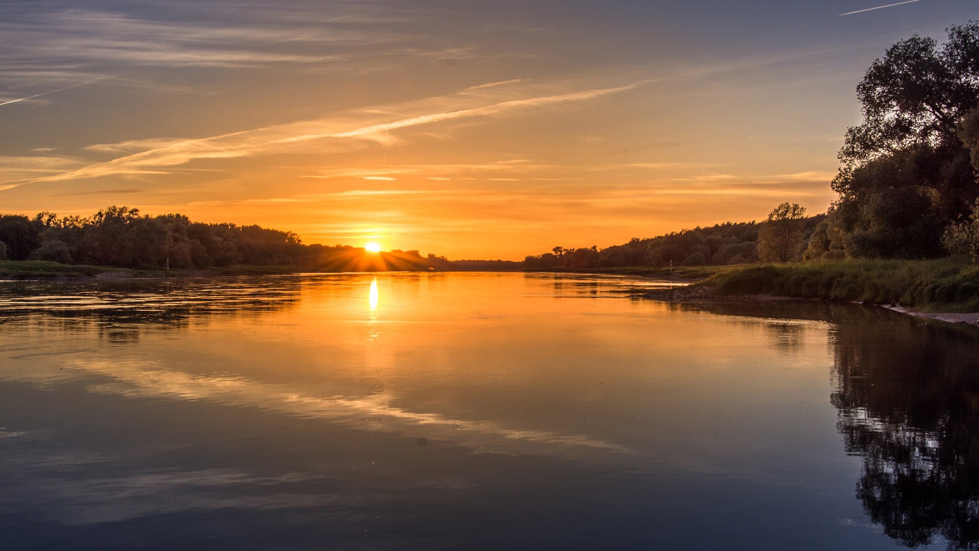
[[[979,331],[889,317],[833,332],[831,399],[870,519],[909,547],[979,549]]]

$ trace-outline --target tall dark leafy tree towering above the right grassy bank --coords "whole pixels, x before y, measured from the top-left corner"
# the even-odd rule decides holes
[[[961,125],[979,105],[979,22],[939,46],[911,36],[873,62],[857,88],[863,123],[847,131],[833,224],[853,256],[941,254],[945,227],[979,185]]]

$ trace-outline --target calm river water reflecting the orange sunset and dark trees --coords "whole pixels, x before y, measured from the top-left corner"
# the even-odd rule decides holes
[[[521,274],[0,284],[4,549],[979,545],[979,337]]]

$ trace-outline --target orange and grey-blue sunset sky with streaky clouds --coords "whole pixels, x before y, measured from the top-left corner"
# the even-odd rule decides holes
[[[0,212],[509,260],[821,213],[873,60],[979,19],[887,4],[3,0]]]

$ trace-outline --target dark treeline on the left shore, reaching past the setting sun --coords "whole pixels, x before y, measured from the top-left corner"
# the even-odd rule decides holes
[[[517,270],[505,261],[450,261],[418,251],[368,254],[349,245],[304,245],[292,231],[204,224],[183,215],[141,216],[109,207],[91,217],[0,215],[0,260],[45,260],[132,269],[209,269],[237,265],[322,272]]]

